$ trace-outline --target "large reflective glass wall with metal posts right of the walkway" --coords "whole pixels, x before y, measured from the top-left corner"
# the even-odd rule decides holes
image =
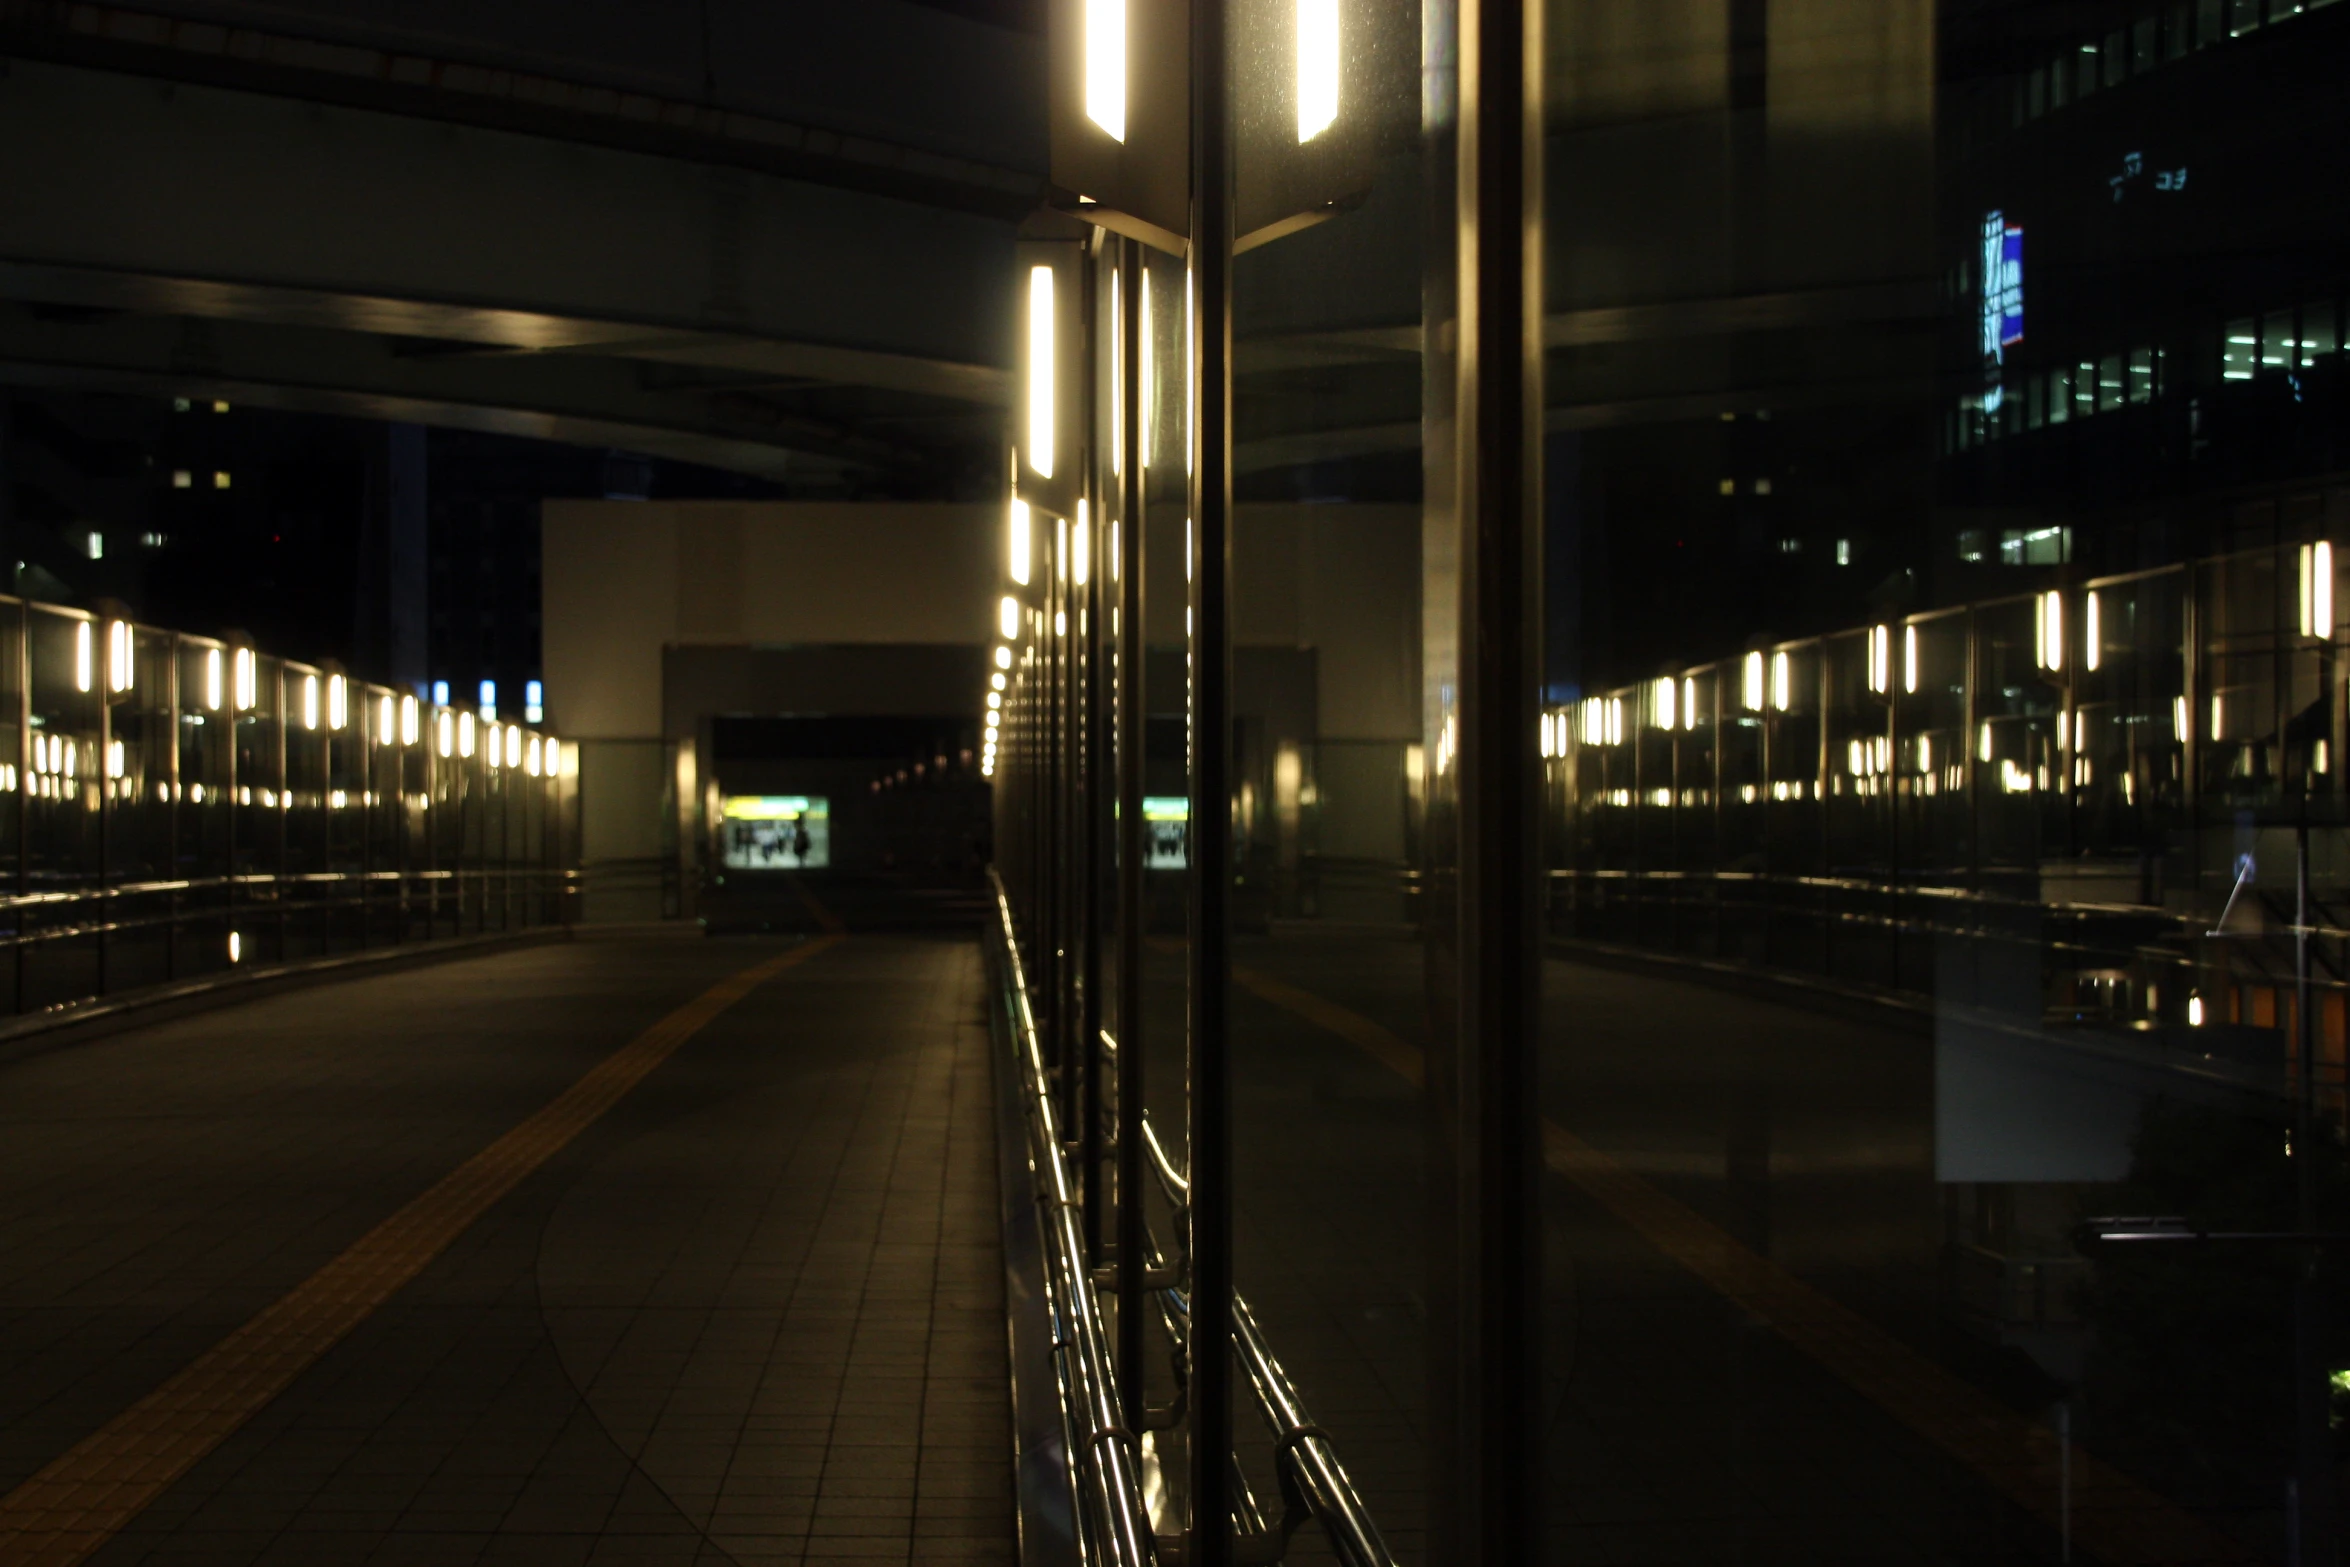
[[[1184,1560],[2341,1560],[2350,5],[1116,9],[978,693],[1072,1452]]]

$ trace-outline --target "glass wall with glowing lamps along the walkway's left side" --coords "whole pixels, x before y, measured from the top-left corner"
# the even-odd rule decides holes
[[[0,756],[9,1013],[569,919],[576,752],[338,670],[0,599]]]

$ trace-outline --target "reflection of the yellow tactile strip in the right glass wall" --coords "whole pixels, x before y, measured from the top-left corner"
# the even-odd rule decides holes
[[[1419,1085],[1422,1055],[1394,1031],[1271,975],[1236,968],[1231,977],[1257,998],[1337,1034]],[[1770,1323],[1779,1337],[1854,1393],[1965,1464],[2023,1511],[2059,1527],[2059,1452],[2047,1426],[1953,1377],[1549,1118],[1542,1121],[1542,1156],[1584,1196],[1624,1219],[1718,1294]],[[2077,1447],[2073,1546],[2117,1567],[2256,1560],[2235,1539]]]

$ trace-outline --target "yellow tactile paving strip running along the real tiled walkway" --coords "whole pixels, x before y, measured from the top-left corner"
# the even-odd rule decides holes
[[[0,1499],[0,1567],[89,1558],[679,1045],[834,942],[818,937],[712,984],[19,1485]]]

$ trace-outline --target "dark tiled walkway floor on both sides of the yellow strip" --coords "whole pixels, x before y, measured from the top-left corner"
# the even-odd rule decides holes
[[[0,1062],[0,1487],[785,947],[540,947]],[[89,1560],[1008,1562],[982,1006],[968,940],[766,980]]]

